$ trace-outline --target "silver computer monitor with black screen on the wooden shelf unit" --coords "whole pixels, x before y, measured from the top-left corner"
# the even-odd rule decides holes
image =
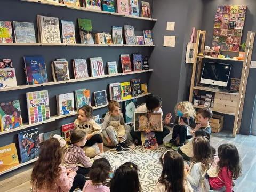
[[[230,64],[205,62],[200,83],[226,87],[230,70]]]

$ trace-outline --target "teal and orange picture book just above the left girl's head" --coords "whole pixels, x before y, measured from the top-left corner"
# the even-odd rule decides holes
[[[84,105],[91,106],[90,90],[86,90],[86,89],[75,90],[75,100],[76,100],[76,110],[78,110],[80,107]]]

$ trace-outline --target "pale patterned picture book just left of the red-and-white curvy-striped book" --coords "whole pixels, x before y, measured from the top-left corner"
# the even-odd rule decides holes
[[[73,59],[73,70],[75,79],[89,77],[86,59]]]

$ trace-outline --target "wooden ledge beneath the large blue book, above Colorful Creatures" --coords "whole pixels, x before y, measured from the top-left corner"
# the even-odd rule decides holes
[[[58,84],[63,84],[63,83],[90,81],[92,79],[108,78],[108,77],[131,75],[131,74],[138,74],[138,73],[147,73],[147,72],[150,72],[150,71],[153,71],[153,69],[141,70],[141,71],[132,71],[132,72],[129,72],[129,73],[118,73],[116,75],[102,75],[102,76],[98,76],[98,77],[88,77],[88,78],[83,78],[83,79],[70,79],[70,80],[67,80],[67,81],[59,81],[59,82],[47,82],[47,83],[35,84],[35,85],[18,85],[17,87],[7,87],[7,88],[0,89],[0,92],[1,91],[19,90],[19,89],[28,89],[28,88],[39,87],[39,86],[58,85]]]

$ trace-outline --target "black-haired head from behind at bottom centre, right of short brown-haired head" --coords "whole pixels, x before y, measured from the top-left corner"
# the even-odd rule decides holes
[[[139,192],[141,186],[138,177],[138,167],[132,162],[126,162],[116,169],[111,179],[111,192]]]

